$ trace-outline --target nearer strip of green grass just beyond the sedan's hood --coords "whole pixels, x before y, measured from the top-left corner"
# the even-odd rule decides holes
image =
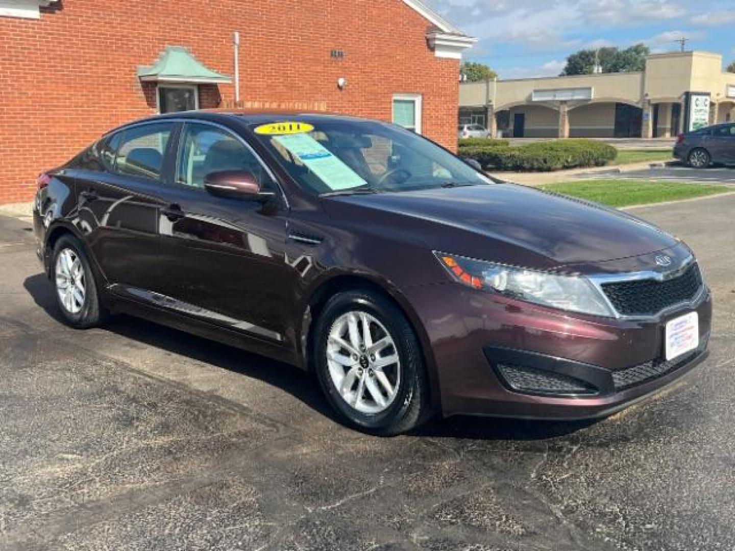
[[[646,180],[567,181],[546,184],[541,189],[614,207],[661,203],[735,191],[734,187],[713,184]]]

